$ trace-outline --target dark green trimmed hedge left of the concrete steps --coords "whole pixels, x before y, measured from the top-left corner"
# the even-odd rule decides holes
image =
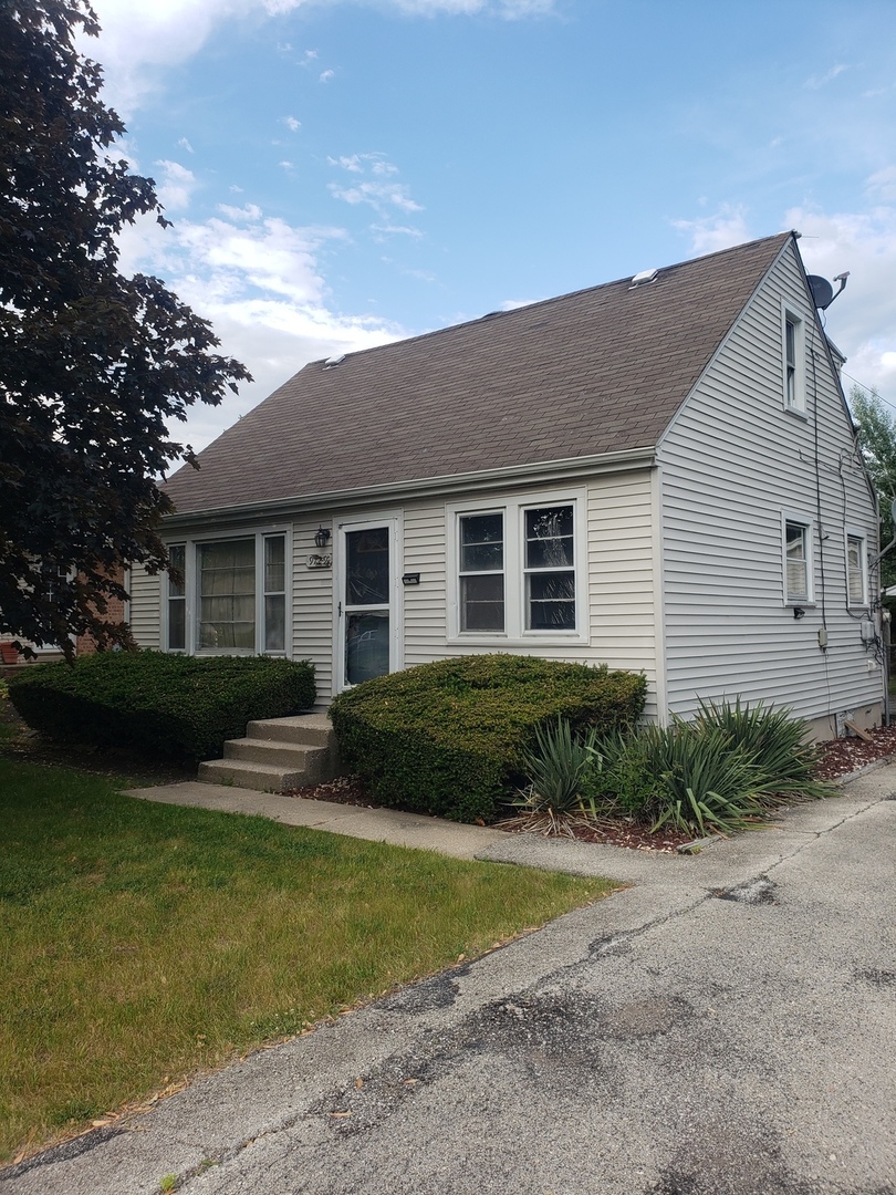
[[[266,656],[103,651],[10,680],[12,704],[50,739],[185,760],[217,758],[247,722],[299,713],[314,697],[313,664]]]

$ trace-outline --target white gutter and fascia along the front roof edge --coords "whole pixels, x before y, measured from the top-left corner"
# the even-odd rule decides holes
[[[627,448],[625,452],[570,456],[564,460],[540,461],[534,465],[513,465],[505,468],[478,470],[471,473],[452,473],[407,482],[389,482],[386,485],[372,485],[356,490],[330,490],[275,501],[215,507],[209,510],[174,511],[174,514],[165,516],[161,529],[167,535],[170,532],[184,527],[204,527],[209,523],[226,527],[232,523],[282,519],[287,515],[306,511],[317,513],[336,507],[361,510],[372,505],[395,503],[431,494],[448,497],[459,492],[487,494],[504,490],[510,485],[551,485],[558,478],[569,480],[603,473],[620,473],[628,468],[651,468],[655,462],[656,451],[653,445],[650,445],[645,448]]]

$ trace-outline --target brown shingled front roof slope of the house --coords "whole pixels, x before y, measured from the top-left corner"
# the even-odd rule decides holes
[[[650,448],[792,235],[314,361],[165,490],[186,514]]]

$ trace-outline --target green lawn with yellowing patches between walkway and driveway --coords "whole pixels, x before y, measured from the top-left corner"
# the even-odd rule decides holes
[[[609,890],[2,758],[0,826],[6,1160]]]

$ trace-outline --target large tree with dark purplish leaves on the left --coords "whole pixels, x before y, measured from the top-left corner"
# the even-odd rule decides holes
[[[245,368],[116,238],[154,214],[154,183],[112,146],[102,67],[74,45],[87,0],[0,0],[0,632],[70,654],[104,620],[121,566],[166,563],[157,488],[182,454],[166,419],[217,404]]]

